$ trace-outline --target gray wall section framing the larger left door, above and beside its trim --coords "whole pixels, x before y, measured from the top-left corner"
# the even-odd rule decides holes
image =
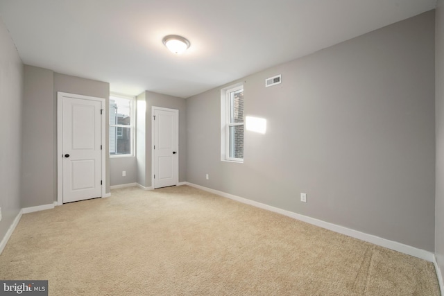
[[[54,73],[54,105],[57,103],[57,92],[67,92],[70,94],[82,94],[84,96],[96,96],[98,98],[105,98],[106,107],[106,135],[105,135],[105,153],[106,155],[110,155],[110,126],[108,123],[110,122],[110,84],[108,82],[101,82],[97,80],[91,80],[86,78],[80,78],[76,76],[69,76],[60,73]],[[54,119],[54,148],[57,151],[57,108]],[[56,154],[54,154],[54,161],[56,162]],[[57,165],[57,162],[56,162]],[[110,157],[106,157],[106,192],[110,192]],[[57,167],[54,167],[54,171],[57,171]],[[56,184],[57,187],[57,184]],[[55,187],[55,191],[56,188]]]

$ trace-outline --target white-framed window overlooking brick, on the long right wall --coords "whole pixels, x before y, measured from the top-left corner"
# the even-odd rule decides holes
[[[221,89],[221,160],[244,162],[244,85]]]

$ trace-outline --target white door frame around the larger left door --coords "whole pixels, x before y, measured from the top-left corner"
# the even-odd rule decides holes
[[[97,98],[95,96],[83,96],[81,94],[69,94],[67,92],[57,92],[57,204],[63,204],[63,98],[78,98],[88,101],[99,101],[101,103],[101,110],[103,110],[103,116],[101,116],[101,173],[102,173],[102,195],[104,198],[106,196],[106,158],[105,158],[105,147],[106,147],[106,101],[105,98]]]

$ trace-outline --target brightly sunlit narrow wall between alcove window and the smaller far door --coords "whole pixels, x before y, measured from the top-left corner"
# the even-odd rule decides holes
[[[146,92],[136,98],[137,184],[146,185]]]

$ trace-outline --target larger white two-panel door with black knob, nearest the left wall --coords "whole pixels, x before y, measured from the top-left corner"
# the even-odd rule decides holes
[[[101,102],[63,98],[63,202],[102,195]]]

